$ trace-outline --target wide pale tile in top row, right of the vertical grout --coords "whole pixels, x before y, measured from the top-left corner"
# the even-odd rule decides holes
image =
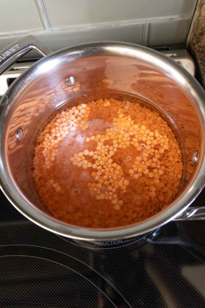
[[[193,12],[193,0],[43,0],[52,28]]]

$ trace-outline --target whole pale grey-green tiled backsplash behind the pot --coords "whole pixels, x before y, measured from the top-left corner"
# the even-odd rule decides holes
[[[186,39],[197,0],[0,0],[0,50],[35,35],[53,51],[115,40],[142,45]]]

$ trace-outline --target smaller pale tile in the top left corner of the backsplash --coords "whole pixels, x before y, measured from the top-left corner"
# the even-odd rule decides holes
[[[0,16],[0,35],[42,29],[33,0],[0,0]]]

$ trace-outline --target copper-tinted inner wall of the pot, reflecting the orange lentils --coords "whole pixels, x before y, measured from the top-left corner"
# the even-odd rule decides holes
[[[74,87],[65,85],[69,76],[77,80]],[[19,90],[8,114],[5,151],[10,175],[30,202],[45,210],[29,178],[36,136],[57,109],[63,109],[64,104],[72,105],[77,97],[87,102],[126,94],[132,95],[133,101],[135,97],[145,99],[148,107],[157,108],[169,117],[183,151],[183,188],[179,195],[184,193],[195,172],[192,157],[195,151],[200,155],[202,130],[194,103],[168,74],[132,57],[92,55],[77,59],[76,56],[70,61],[64,54],[42,61],[25,73],[24,78],[26,85]],[[18,128],[24,132],[22,142],[16,139]]]

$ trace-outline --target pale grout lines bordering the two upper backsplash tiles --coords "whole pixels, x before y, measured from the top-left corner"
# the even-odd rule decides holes
[[[35,31],[36,34],[38,33],[59,33],[63,31],[80,31],[80,30],[92,30],[92,29],[104,29],[108,27],[117,27],[117,26],[131,26],[131,25],[138,25],[138,24],[146,24],[146,23],[158,23],[163,21],[175,21],[175,20],[183,20],[183,19],[190,19],[192,16],[190,14],[184,15],[173,15],[173,16],[160,16],[155,18],[138,18],[138,19],[129,19],[129,20],[122,20],[122,21],[115,21],[115,22],[100,22],[100,23],[93,23],[93,24],[84,24],[84,25],[73,25],[67,27],[59,27],[59,28],[51,28],[48,16],[45,11],[44,4],[42,0],[35,0],[38,3],[39,10],[41,11],[42,20],[44,23],[43,30],[38,29],[31,29],[31,30],[22,30],[22,31],[11,31],[9,33],[0,33],[0,38],[14,36],[14,35],[22,35],[28,32]],[[43,6],[40,6],[43,5]]]

